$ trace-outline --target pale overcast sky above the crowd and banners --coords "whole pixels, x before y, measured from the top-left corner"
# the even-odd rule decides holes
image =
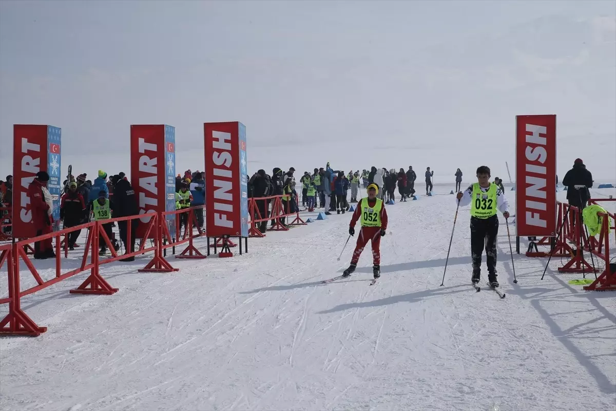
[[[506,177],[515,116],[555,113],[559,174],[581,157],[616,179],[615,16],[587,0],[2,0],[0,178],[14,123],[59,126],[62,169],[94,176],[129,173],[130,124],[175,126],[177,171],[194,171],[203,122],[236,120],[249,173]]]

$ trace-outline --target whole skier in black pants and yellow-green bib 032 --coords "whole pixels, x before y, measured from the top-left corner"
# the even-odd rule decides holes
[[[498,237],[498,209],[509,218],[509,203],[505,192],[498,185],[490,183],[490,168],[477,168],[477,182],[469,185],[464,193],[458,192],[456,201],[464,207],[471,205],[471,282],[481,279],[481,256],[487,254],[488,283],[498,287],[496,280],[496,238]]]

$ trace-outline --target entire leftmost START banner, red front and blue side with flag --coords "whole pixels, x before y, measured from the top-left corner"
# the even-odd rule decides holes
[[[13,126],[13,210],[15,238],[36,237],[28,186],[39,171],[49,174],[47,190],[53,203],[54,229],[60,221],[60,128],[39,124]]]

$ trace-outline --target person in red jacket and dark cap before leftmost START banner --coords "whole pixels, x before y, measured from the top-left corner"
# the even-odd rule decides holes
[[[52,224],[54,224],[52,217],[54,205],[51,200],[51,193],[47,190],[48,181],[49,174],[46,171],[39,171],[28,185],[27,193],[32,208],[32,224],[34,224],[37,236],[51,233]],[[34,243],[34,258],[55,258],[52,238]]]

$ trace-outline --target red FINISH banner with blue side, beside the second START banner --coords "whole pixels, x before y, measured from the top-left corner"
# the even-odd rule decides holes
[[[246,127],[232,121],[203,128],[208,237],[248,237]]]

